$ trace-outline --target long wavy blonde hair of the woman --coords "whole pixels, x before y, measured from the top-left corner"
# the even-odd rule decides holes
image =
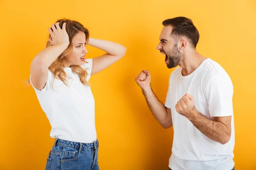
[[[54,62],[52,62],[52,64],[49,66],[49,70],[52,72],[53,74],[53,82],[54,79],[61,79],[61,81],[65,84],[67,84],[67,74],[64,71],[64,67],[66,65],[65,60],[63,59],[64,57],[66,57],[68,54],[70,54],[73,50],[73,44],[72,44],[72,40],[73,37],[79,33],[79,31],[84,32],[84,34],[86,35],[86,42],[88,42],[89,40],[89,31],[87,28],[84,28],[84,26],[74,20],[69,20],[69,19],[60,19],[57,20],[55,23],[59,23],[60,28],[62,29],[63,23],[66,23],[66,31],[67,34],[69,36],[69,41],[70,44],[68,45],[67,49],[65,49],[61,55],[59,55]],[[51,35],[49,34],[49,38],[51,37]],[[51,42],[49,42],[49,40],[46,43],[46,47],[52,46]],[[86,62],[87,63],[87,62]],[[84,85],[89,85],[89,83],[86,80],[87,77],[87,69],[81,68],[80,65],[70,65],[70,68],[72,70],[73,73],[78,74],[79,79],[81,81],[82,84]],[[53,82],[52,82],[52,86],[53,86]],[[29,84],[31,82],[29,81]]]

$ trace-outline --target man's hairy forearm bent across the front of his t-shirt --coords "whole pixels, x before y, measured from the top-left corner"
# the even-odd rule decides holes
[[[186,117],[209,139],[221,144],[226,144],[230,140],[230,132],[223,123],[208,119],[196,109],[193,109],[192,113],[186,115]]]

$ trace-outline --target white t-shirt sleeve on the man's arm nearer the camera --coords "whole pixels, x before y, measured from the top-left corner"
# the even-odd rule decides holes
[[[205,96],[211,117],[233,115],[233,84],[230,77],[215,74],[207,82]]]

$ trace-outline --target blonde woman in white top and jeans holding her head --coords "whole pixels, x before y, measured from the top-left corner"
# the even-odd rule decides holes
[[[89,38],[81,23],[58,20],[49,28],[47,48],[32,61],[30,82],[52,126],[55,143],[46,170],[99,170],[94,98],[90,77],[117,60],[126,48],[114,42]],[[85,59],[85,46],[106,54]]]

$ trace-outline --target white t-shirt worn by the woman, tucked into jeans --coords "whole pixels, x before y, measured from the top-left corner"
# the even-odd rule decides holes
[[[86,63],[87,62],[87,63]],[[87,69],[87,81],[90,79],[93,60],[86,59],[82,68]],[[73,142],[92,143],[96,141],[94,98],[89,85],[80,82],[78,74],[70,67],[64,68],[68,86],[60,79],[54,79],[48,71],[45,87],[35,89],[41,108],[49,119],[52,130],[50,136]]]

